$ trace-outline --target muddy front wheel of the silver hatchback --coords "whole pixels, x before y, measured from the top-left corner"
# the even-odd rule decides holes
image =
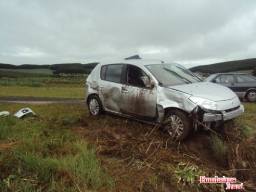
[[[180,110],[168,111],[162,126],[172,141],[184,141],[193,131],[192,120]]]

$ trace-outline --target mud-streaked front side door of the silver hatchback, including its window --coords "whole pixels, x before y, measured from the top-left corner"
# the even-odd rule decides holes
[[[126,66],[125,84],[122,87],[121,112],[141,120],[156,119],[157,90],[152,80],[139,67]]]

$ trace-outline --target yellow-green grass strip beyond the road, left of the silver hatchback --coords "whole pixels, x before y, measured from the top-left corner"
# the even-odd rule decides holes
[[[84,99],[86,78],[2,78],[0,97]]]

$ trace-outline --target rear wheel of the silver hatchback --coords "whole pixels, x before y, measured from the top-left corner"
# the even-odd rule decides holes
[[[102,104],[98,96],[93,95],[88,102],[89,113],[92,116],[99,116],[103,114]]]

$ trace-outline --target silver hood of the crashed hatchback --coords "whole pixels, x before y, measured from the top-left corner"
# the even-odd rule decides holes
[[[208,81],[183,84],[181,86],[169,86],[168,88],[212,101],[230,100],[237,97],[229,88]]]

